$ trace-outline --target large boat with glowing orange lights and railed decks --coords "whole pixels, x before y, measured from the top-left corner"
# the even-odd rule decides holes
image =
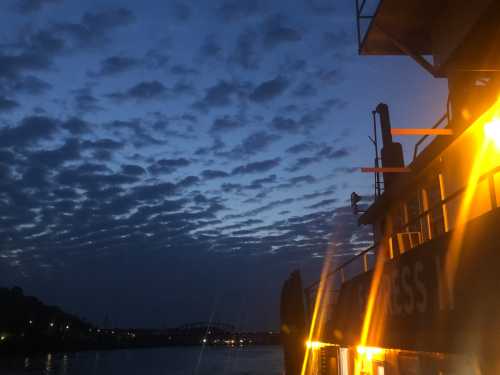
[[[305,288],[286,374],[500,374],[500,1],[356,0],[356,16],[361,55],[409,56],[449,99],[418,129],[375,106],[373,202],[351,197],[374,244]],[[405,163],[394,138],[415,135]]]

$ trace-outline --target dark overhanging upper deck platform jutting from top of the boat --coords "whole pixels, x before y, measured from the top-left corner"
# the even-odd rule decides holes
[[[440,72],[500,68],[497,0],[379,0],[371,16],[362,55],[431,55]]]

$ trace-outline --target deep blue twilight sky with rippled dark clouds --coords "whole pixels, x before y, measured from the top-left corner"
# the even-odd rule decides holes
[[[291,270],[370,245],[370,111],[444,112],[409,58],[357,55],[353,0],[0,11],[0,285],[97,324],[277,328]]]

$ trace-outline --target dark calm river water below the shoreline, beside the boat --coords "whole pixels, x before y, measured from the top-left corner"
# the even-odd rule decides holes
[[[279,346],[118,350],[0,361],[2,375],[281,375]]]

